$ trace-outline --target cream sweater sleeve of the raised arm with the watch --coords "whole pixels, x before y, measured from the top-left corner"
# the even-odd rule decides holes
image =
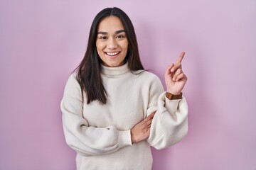
[[[188,132],[188,105],[183,97],[169,100],[163,92],[161,81],[151,82],[147,115],[156,111],[151,124],[149,145],[163,149],[181,141]]]

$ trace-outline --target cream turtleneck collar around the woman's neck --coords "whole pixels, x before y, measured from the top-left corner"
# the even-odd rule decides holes
[[[128,71],[129,71],[128,62],[126,62],[124,65],[119,66],[119,67],[106,67],[106,66],[101,64],[102,74],[114,76],[114,75],[124,74]]]

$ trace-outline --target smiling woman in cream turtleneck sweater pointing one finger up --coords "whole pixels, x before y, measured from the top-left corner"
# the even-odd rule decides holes
[[[68,79],[61,110],[77,169],[151,169],[150,146],[174,145],[187,133],[187,77],[176,64],[161,81],[139,59],[132,22],[119,8],[95,16],[85,57]]]

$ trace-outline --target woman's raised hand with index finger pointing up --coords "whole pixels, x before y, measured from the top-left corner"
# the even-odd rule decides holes
[[[181,67],[181,61],[184,55],[185,52],[181,52],[181,55],[176,61],[176,64],[173,63],[167,67],[164,75],[167,92],[174,95],[181,94],[181,91],[185,86],[186,81],[188,80]]]

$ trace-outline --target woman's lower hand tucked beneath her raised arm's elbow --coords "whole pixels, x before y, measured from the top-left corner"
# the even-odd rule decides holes
[[[154,113],[151,113],[148,117],[142,120],[140,123],[134,126],[131,130],[132,144],[146,140],[150,134],[150,127],[154,118]]]

